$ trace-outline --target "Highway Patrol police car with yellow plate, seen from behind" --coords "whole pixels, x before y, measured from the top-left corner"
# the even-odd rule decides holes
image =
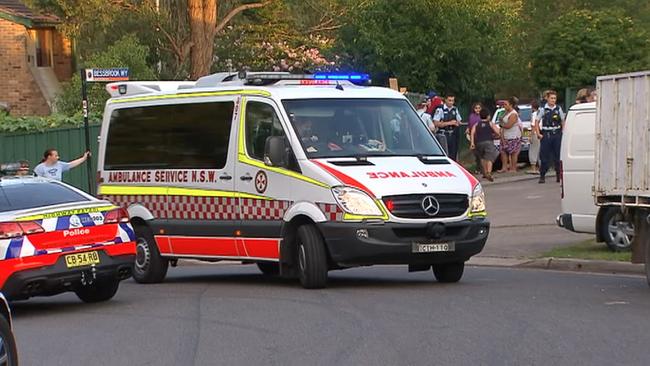
[[[0,288],[10,300],[74,291],[105,301],[131,276],[128,213],[64,183],[0,177]]]

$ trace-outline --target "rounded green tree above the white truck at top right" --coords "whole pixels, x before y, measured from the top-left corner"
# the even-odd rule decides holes
[[[574,10],[542,30],[532,75],[540,88],[595,83],[598,75],[650,68],[649,34],[619,11]]]

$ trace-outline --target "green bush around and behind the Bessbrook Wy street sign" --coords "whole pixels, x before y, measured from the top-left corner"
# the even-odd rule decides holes
[[[128,67],[131,80],[153,80],[155,73],[147,63],[149,48],[140,44],[135,35],[125,35],[105,51],[96,53],[84,63],[85,68]],[[104,83],[88,84],[90,111],[103,111],[109,95]],[[81,78],[75,74],[64,85],[57,98],[57,110],[66,115],[74,115],[81,110]]]

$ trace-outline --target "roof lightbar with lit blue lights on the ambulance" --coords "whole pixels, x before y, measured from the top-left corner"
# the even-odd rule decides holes
[[[242,77],[243,76],[243,77]],[[248,85],[267,85],[280,80],[299,80],[301,84],[318,85],[334,84],[339,81],[348,81],[355,85],[370,85],[371,80],[368,74],[340,74],[340,73],[316,73],[316,74],[288,74],[288,73],[256,73],[251,75],[240,75]]]

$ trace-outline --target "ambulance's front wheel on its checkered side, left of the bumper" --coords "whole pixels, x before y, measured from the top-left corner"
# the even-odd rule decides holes
[[[314,225],[298,228],[298,272],[304,288],[324,288],[327,285],[327,255],[325,243]]]

